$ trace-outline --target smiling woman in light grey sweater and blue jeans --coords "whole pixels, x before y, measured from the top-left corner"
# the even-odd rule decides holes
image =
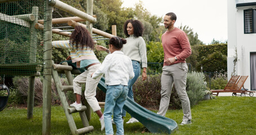
[[[138,77],[140,77],[140,63],[142,64],[143,68],[142,80],[147,79],[147,51],[145,40],[142,38],[143,30],[143,25],[139,20],[127,20],[124,23],[124,34],[127,37],[127,43],[124,44],[122,51],[124,55],[127,55],[132,60],[133,72],[135,75],[134,78],[129,80],[128,82],[129,91],[127,96],[133,101],[134,98],[132,86],[136,82]],[[109,50],[102,46],[96,46],[96,50],[106,51],[109,53]],[[126,111],[123,109],[122,116],[124,117],[125,114]],[[138,120],[132,117],[128,120],[127,124],[136,122],[138,122]]]

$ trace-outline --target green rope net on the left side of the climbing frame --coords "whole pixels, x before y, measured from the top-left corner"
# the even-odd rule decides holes
[[[34,28],[43,19],[44,1],[0,2],[0,77],[38,76],[42,61],[37,60],[37,46],[43,31]],[[42,57],[42,56],[41,56]]]

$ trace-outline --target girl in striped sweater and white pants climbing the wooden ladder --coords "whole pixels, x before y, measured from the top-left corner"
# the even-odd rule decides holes
[[[105,128],[104,116],[101,112],[101,107],[98,105],[96,99],[96,88],[101,78],[92,79],[91,74],[100,68],[101,63],[98,61],[95,53],[93,52],[94,43],[91,34],[86,28],[82,26],[75,26],[75,30],[70,36],[70,40],[59,40],[52,42],[53,47],[58,48],[71,48],[70,57],[72,62],[77,62],[77,68],[84,69],[82,74],[78,75],[73,80],[73,89],[77,101],[70,105],[75,107],[76,110],[82,109],[81,95],[82,95],[82,83],[86,83],[86,90],[84,96],[88,104],[92,107],[93,112],[96,112],[100,118],[101,131]]]

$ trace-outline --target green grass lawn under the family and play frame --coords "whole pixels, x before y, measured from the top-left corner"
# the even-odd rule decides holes
[[[52,106],[51,134],[70,134],[66,116],[61,106]],[[155,113],[157,110],[152,110]],[[172,134],[256,134],[255,97],[217,97],[199,102],[191,108],[192,124],[178,125]],[[166,115],[178,124],[182,121],[182,110],[169,110]],[[78,128],[82,128],[79,114],[73,115]],[[131,118],[129,114],[124,121]],[[90,125],[94,131],[87,134],[105,134],[100,131],[100,122],[95,113]],[[115,129],[115,125],[113,126]],[[124,124],[125,134],[141,133],[141,123]],[[7,108],[0,112],[0,134],[42,134],[42,107],[34,108],[32,120],[26,119],[26,109]]]

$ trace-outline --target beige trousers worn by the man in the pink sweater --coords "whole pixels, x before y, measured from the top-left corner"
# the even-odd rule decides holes
[[[159,115],[165,116],[168,110],[170,93],[172,92],[174,83],[179,100],[181,100],[183,119],[192,119],[190,100],[186,92],[187,70],[188,68],[186,63],[178,63],[163,67],[163,73],[161,75],[161,101],[158,111]]]

